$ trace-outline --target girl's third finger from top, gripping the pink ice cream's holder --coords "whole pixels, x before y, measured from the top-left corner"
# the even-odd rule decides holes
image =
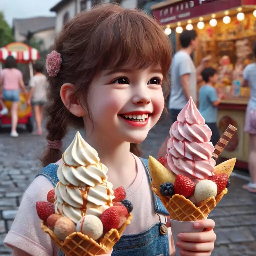
[[[178,241],[176,243],[176,246],[180,249],[194,252],[193,256],[195,255],[195,252],[212,252],[214,249],[214,243],[208,242],[208,243],[192,243],[192,242],[182,242]]]

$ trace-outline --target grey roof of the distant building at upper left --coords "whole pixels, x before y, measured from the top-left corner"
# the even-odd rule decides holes
[[[56,17],[34,17],[26,19],[13,19],[14,29],[17,29],[21,35],[27,35],[28,31],[36,33],[55,28]]]

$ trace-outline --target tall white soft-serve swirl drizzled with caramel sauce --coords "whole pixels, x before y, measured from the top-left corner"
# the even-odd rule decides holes
[[[113,185],[107,181],[107,167],[100,163],[97,151],[77,132],[62,155],[55,188],[55,212],[73,222],[88,214],[99,217],[113,206]]]

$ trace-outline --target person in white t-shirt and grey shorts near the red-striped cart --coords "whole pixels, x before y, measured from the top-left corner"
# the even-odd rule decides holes
[[[44,65],[35,63],[33,65],[34,77],[30,80],[30,92],[28,104],[32,103],[37,130],[34,135],[42,135],[43,110],[46,104],[46,76],[43,74]]]

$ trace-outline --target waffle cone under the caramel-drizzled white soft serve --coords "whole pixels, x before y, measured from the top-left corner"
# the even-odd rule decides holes
[[[129,214],[126,222],[119,229],[111,229],[98,243],[80,232],[74,232],[65,241],[61,241],[44,222],[42,222],[41,228],[45,233],[49,234],[66,256],[94,256],[110,252],[120,239],[126,226],[131,223],[131,219],[132,215]]]

